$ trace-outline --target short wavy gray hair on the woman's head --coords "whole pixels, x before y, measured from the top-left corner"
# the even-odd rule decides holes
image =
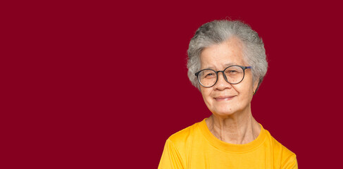
[[[266,49],[264,49],[262,39],[249,25],[239,20],[214,20],[201,25],[189,42],[187,51],[188,78],[194,87],[200,89],[194,74],[201,68],[201,51],[208,46],[220,44],[232,37],[237,37],[242,42],[244,61],[251,66],[253,80],[258,79],[258,87],[260,86],[268,68]]]

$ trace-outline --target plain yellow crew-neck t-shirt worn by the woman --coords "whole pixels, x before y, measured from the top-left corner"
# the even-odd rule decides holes
[[[159,169],[168,168],[298,168],[292,151],[282,146],[261,125],[248,144],[229,144],[208,130],[205,120],[170,136]]]

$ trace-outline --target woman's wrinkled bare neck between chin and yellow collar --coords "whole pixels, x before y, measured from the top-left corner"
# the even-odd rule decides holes
[[[213,113],[206,119],[206,125],[215,137],[231,144],[252,142],[261,131],[261,126],[251,111],[237,112],[225,117]]]

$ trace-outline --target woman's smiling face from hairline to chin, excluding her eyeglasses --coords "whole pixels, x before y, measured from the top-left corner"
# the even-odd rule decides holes
[[[229,65],[250,66],[245,63],[242,44],[237,38],[209,46],[201,52],[201,70],[210,68],[224,70]],[[233,113],[250,111],[250,102],[258,81],[252,81],[251,69],[246,69],[244,79],[239,84],[225,81],[223,74],[218,73],[218,81],[213,87],[202,87],[200,91],[208,109],[223,118]]]

